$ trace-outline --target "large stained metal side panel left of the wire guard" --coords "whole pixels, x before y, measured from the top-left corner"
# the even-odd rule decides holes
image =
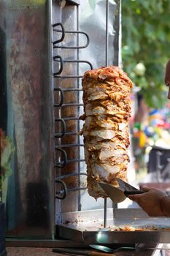
[[[4,198],[7,236],[52,238],[50,1],[7,0],[1,1],[0,8],[7,61],[4,132],[15,146]],[[5,191],[2,192],[5,195]]]

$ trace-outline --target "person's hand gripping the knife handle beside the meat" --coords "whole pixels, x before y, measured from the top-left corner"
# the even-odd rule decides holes
[[[141,190],[144,191],[143,194],[128,195],[128,198],[138,203],[149,216],[163,216],[161,199],[166,196],[166,193],[160,189],[150,189],[149,187],[142,187]]]

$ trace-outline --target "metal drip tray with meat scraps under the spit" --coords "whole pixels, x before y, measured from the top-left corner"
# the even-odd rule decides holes
[[[102,219],[97,211],[72,213],[76,219],[70,219],[63,225],[58,225],[58,236],[85,244],[134,244],[134,243],[170,243],[170,218],[147,217],[141,209],[107,209],[108,215],[114,211],[114,217],[107,218],[107,227],[104,228]],[[84,216],[83,216],[84,215]],[[83,217],[86,218],[83,219]],[[111,214],[112,215],[112,214]],[[94,219],[88,219],[88,216]],[[65,216],[66,217],[66,216]],[[144,231],[111,231],[115,227],[148,228]],[[154,227],[156,230],[150,230]],[[168,229],[168,230],[163,230]]]

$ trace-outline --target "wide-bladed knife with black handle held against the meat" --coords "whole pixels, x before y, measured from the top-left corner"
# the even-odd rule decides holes
[[[108,197],[112,200],[113,203],[120,203],[125,200],[125,198],[128,195],[135,195],[135,194],[142,194],[143,191],[136,189],[135,190],[123,190],[118,187],[113,187],[110,184],[106,184],[103,182],[98,183],[102,189],[104,189],[104,192],[108,195]]]

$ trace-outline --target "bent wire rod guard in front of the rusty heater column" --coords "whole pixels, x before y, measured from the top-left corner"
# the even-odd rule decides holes
[[[53,33],[57,33],[58,34],[58,39],[56,39],[53,42],[53,49],[61,49],[61,55],[62,55],[62,49],[69,49],[69,50],[80,50],[83,48],[86,48],[89,44],[89,37],[88,34],[86,34],[85,32],[82,31],[65,31],[64,26],[62,23],[55,23],[53,24]],[[64,38],[66,36],[66,34],[74,34],[77,35],[77,45],[72,46],[72,45],[61,45],[61,42],[64,42]],[[86,37],[86,43],[85,45],[78,45],[79,43],[79,39],[78,37],[80,35],[84,35]],[[88,67],[90,69],[93,69],[92,64],[90,64],[89,61],[85,61],[85,60],[80,60],[80,59],[74,59],[74,60],[70,60],[70,59],[63,59],[63,56],[61,55],[55,55],[53,56],[53,62],[54,64],[56,64],[56,66],[58,67],[58,69],[54,70],[53,72],[53,78],[55,80],[55,78],[58,79],[66,79],[67,83],[69,83],[69,79],[77,79],[77,88],[54,88],[54,94],[57,94],[57,96],[55,96],[55,99],[58,99],[58,102],[55,102],[54,104],[54,108],[57,112],[57,117],[55,115],[55,124],[57,127],[60,127],[60,130],[55,132],[55,138],[58,139],[58,143],[57,145],[55,145],[55,167],[62,169],[64,167],[66,167],[69,164],[72,163],[77,163],[78,165],[80,165],[80,162],[84,162],[85,159],[82,157],[80,157],[80,154],[77,154],[76,158],[68,158],[67,152],[66,152],[66,148],[81,148],[84,147],[83,143],[80,143],[80,138],[79,138],[79,134],[78,132],[80,131],[80,108],[83,107],[82,102],[80,102],[80,93],[82,92],[82,88],[80,86],[80,78],[82,78],[82,75],[79,74],[79,64],[88,64]],[[77,56],[79,56],[79,54],[77,53]],[[77,73],[72,75],[63,75],[63,68],[64,68],[64,64],[77,64]],[[88,69],[89,69],[88,68]],[[64,98],[66,97],[67,93],[71,93],[71,94],[77,94],[77,102],[64,102]],[[76,108],[76,113],[77,116],[63,116],[62,114],[62,110],[63,108]],[[69,121],[76,121],[77,122],[77,131],[70,131],[69,129],[67,129],[67,122]],[[64,136],[74,136],[74,138],[77,138],[77,143],[63,143],[62,142],[62,138],[64,138]],[[79,152],[80,150],[78,150]],[[80,177],[80,176],[87,176],[87,173],[84,172],[80,172],[80,166],[77,168],[77,173],[66,173],[65,175],[60,175],[57,176],[55,178],[55,184],[56,184],[56,188],[55,188],[55,197],[58,199],[64,199],[67,195],[68,192],[71,191],[77,191],[77,190],[82,190],[82,189],[87,189],[87,187],[67,187],[66,183],[64,182],[64,179],[69,178],[69,177]],[[59,185],[59,190],[58,190],[58,185]]]

